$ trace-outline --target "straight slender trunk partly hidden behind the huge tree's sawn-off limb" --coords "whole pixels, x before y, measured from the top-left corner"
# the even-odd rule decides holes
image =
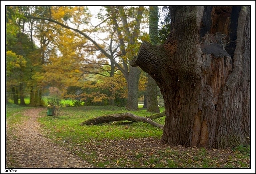
[[[149,38],[152,45],[158,44],[158,7],[149,7]],[[158,107],[157,83],[148,76],[147,84],[147,111],[160,113]]]

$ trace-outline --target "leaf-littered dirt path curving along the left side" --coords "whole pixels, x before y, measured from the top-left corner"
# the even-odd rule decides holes
[[[64,148],[45,138],[37,118],[44,108],[26,110],[22,122],[7,123],[6,159],[7,167],[13,168],[89,168],[82,161],[65,151]]]

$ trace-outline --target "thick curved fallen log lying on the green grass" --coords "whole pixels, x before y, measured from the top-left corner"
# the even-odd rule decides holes
[[[132,121],[132,122],[146,122],[152,126],[163,128],[162,124],[152,121],[150,118],[136,116],[132,113],[120,113],[120,114],[110,114],[107,116],[99,116],[96,118],[88,119],[81,123],[81,125],[96,125],[102,123],[109,123],[113,121]]]

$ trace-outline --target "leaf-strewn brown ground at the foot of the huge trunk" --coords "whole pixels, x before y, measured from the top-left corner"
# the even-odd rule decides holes
[[[83,150],[82,150],[83,149]],[[74,153],[95,154],[94,167],[105,168],[249,168],[250,159],[238,159],[231,149],[205,150],[181,145],[161,145],[154,138],[103,140],[85,143],[73,149]],[[88,155],[87,155],[87,154]],[[238,161],[243,162],[241,165]],[[171,168],[173,168],[171,167]]]

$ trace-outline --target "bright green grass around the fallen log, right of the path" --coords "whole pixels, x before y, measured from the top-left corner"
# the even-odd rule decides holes
[[[119,122],[113,122],[110,124],[104,123],[94,126],[80,126],[80,123],[87,119],[121,112],[130,111],[125,108],[118,108],[114,106],[68,107],[62,108],[62,114],[57,118],[44,116],[40,119],[40,122],[46,129],[50,130],[52,136],[59,137],[62,140],[75,140],[78,144],[91,139],[100,141],[103,139],[118,140],[143,137],[161,137],[161,129],[142,122],[129,124],[127,126],[120,125]],[[145,109],[140,109],[133,113],[138,116],[150,116],[150,113],[147,113]],[[163,124],[164,119],[162,119],[160,123]]]

